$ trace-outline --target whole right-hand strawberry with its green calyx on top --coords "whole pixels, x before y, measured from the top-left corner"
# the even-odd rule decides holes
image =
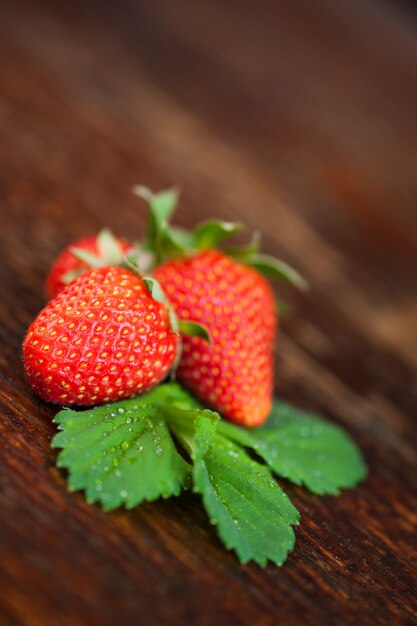
[[[180,330],[197,322],[211,336],[208,344],[203,334],[182,333],[179,380],[223,417],[245,426],[261,424],[271,409],[278,324],[274,295],[262,273],[301,288],[305,281],[286,263],[260,254],[257,234],[227,255],[216,250],[240,224],[211,220],[193,232],[171,227],[175,190],[153,194],[137,186],[133,191],[148,204],[144,247],[153,254],[153,276],[172,304]]]

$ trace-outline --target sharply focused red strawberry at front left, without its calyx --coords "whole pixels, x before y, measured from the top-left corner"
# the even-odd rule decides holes
[[[179,337],[166,307],[121,267],[85,272],[30,326],[27,376],[48,402],[96,405],[142,393],[169,372]]]

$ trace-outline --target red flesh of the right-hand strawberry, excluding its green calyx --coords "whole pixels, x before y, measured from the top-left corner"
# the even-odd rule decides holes
[[[154,271],[181,320],[210,332],[212,344],[183,337],[178,379],[206,405],[245,426],[271,410],[277,314],[259,272],[216,250],[168,261]]]

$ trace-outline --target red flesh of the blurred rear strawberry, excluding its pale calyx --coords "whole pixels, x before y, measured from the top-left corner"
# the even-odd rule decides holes
[[[132,248],[132,244],[125,239],[117,238],[115,239],[115,243],[119,247],[121,255],[125,254]],[[96,235],[79,239],[71,246],[67,246],[64,250],[62,250],[52,263],[51,269],[49,270],[45,280],[45,292],[48,300],[55,298],[55,296],[57,296],[58,293],[66,287],[67,283],[64,280],[65,276],[70,273],[73,273],[74,275],[77,273],[82,274],[89,269],[89,265],[87,263],[80,261],[80,259],[77,259],[77,257],[74,256],[72,248],[77,248],[94,255],[97,255],[100,252]],[[109,263],[109,265],[112,265],[112,263]]]

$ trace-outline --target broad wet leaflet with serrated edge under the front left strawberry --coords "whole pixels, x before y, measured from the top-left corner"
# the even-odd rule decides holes
[[[60,411],[54,421],[61,432],[52,446],[63,448],[58,466],[68,470],[70,489],[85,490],[88,502],[111,510],[168,498],[187,488],[190,467],[161,415],[160,402],[166,397],[157,388],[87,411]]]

